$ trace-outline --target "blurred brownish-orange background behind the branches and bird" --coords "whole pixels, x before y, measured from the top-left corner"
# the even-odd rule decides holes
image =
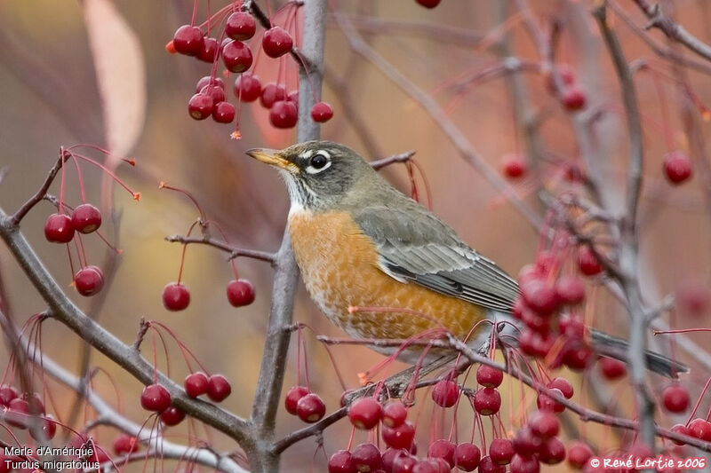
[[[707,3],[703,0],[662,3],[673,12],[675,20],[699,39],[711,40]],[[478,158],[540,217],[544,217],[544,211],[536,196],[537,189],[544,186],[553,193],[580,191],[578,184],[566,183],[561,176],[571,166],[587,172],[589,163],[581,160],[580,153],[581,149],[589,151],[591,146],[601,160],[595,165],[598,166],[596,172],[603,177],[605,192],[613,205],[619,204],[626,177],[626,122],[609,55],[589,14],[593,2],[530,2],[531,14],[542,26],[547,28],[553,18],[560,21],[562,29],[555,59],[574,69],[587,105],[578,113],[561,106],[547,89],[546,71],[518,75],[525,90],[527,110],[537,114],[539,139],[545,144],[547,161],[539,172],[517,179],[507,180],[501,173],[504,155],[525,153],[523,130],[516,124],[516,116],[520,117],[521,111],[516,114],[508,75],[475,81],[467,81],[467,78],[498,67],[503,57],[515,57],[534,65],[540,63],[539,50],[531,41],[521,12],[515,4],[506,4],[498,0],[445,0],[439,7],[428,10],[414,0],[340,0],[331,2],[330,8],[345,14],[373,51],[387,59],[405,80],[439,103],[451,126],[466,138]],[[276,11],[279,5],[271,2],[270,11]],[[643,28],[647,20],[634,5],[627,2],[615,5],[635,28]],[[240,140],[230,139],[234,124],[223,125],[211,120],[196,122],[190,118],[188,99],[195,93],[196,81],[210,74],[211,66],[185,56],[170,55],[164,46],[176,28],[189,23],[193,4],[116,0],[114,6],[135,35],[135,44],[116,43],[113,45],[116,51],[104,45],[100,55],[108,55],[112,60],[115,53],[116,60],[124,60],[122,54],[134,51],[132,47],[137,46],[140,54],[131,52],[133,60],[127,64],[135,68],[129,71],[132,76],[144,77],[139,81],[138,90],[129,88],[122,98],[124,106],[133,110],[128,114],[126,126],[131,122],[139,130],[135,145],[124,154],[137,164],[134,168],[122,164],[116,174],[132,189],[140,191],[141,199],[132,201],[129,193],[116,186],[115,210],[120,225],[112,225],[105,209],[103,232],[116,241],[123,253],[117,258],[115,279],[106,291],[104,304],[92,316],[126,343],[132,343],[140,318],[155,319],[171,327],[205,367],[213,373],[225,374],[232,382],[233,393],[223,406],[236,414],[248,415],[252,398],[259,396],[254,386],[270,304],[271,268],[246,258],[237,261],[240,277],[253,282],[257,298],[254,304],[236,309],[228,304],[225,296],[225,287],[233,278],[226,255],[214,248],[190,246],[182,280],[190,289],[191,304],[185,311],[166,311],[161,304],[161,292],[166,283],[178,278],[181,247],[164,238],[187,233],[198,213],[185,196],[159,190],[158,183],[164,181],[192,193],[208,217],[225,230],[232,244],[275,251],[288,211],[286,191],[272,169],[253,162],[244,150],[256,146],[288,146],[295,140],[295,130],[275,130],[268,123],[267,111],[257,104],[241,106]],[[220,6],[223,4],[212,5],[214,10]],[[85,9],[82,2],[5,0],[0,3],[0,97],[3,101],[0,106],[0,169],[3,172],[0,206],[7,212],[17,209],[36,192],[57,159],[60,146],[79,143],[108,146],[100,88],[122,87],[122,76],[115,75],[114,82],[101,86],[98,83]],[[621,17],[610,14],[627,60],[646,61],[644,64],[659,71],[635,75],[645,146],[641,209],[644,296],[654,305],[662,296],[674,294],[680,286],[694,287],[700,288],[701,302],[706,304],[704,291],[711,267],[707,149],[702,144],[699,149],[704,154],[691,152],[683,122],[686,116],[683,107],[690,100],[682,91],[692,91],[698,100],[696,108],[691,107],[691,114],[704,136],[709,126],[701,120],[704,108],[699,104],[711,104],[711,83],[707,74],[693,68],[669,67],[655,56],[645,40],[665,49],[672,48],[685,57],[691,57],[690,52],[672,47],[658,31],[640,33],[641,29],[635,31]],[[200,2],[198,19],[205,18],[206,3]],[[96,24],[100,20],[92,21],[94,28],[100,30],[100,24]],[[259,38],[258,31],[252,40],[254,50],[259,49],[259,43],[254,43]],[[502,43],[503,40],[506,41]],[[693,59],[711,68],[708,61]],[[514,275],[523,264],[535,260],[538,231],[507,201],[491,178],[483,177],[462,158],[431,114],[387,75],[350,50],[347,38],[332,16],[327,26],[325,63],[327,77],[323,97],[332,104],[334,116],[322,127],[323,138],[351,146],[369,160],[415,151],[431,190],[435,213],[464,240]],[[280,64],[283,69],[279,68]],[[290,84],[288,89],[294,87],[296,67],[292,59],[280,63],[262,58],[257,61],[256,73],[263,82],[279,77],[281,82]],[[234,103],[233,80],[234,77],[226,79],[226,83]],[[598,137],[595,143],[580,142],[581,130],[586,126],[595,127]],[[664,155],[677,149],[691,154],[695,172],[691,181],[674,187],[665,180],[661,166]],[[92,151],[85,154],[103,159]],[[101,173],[90,166],[83,165],[83,169],[87,199],[99,205]],[[409,177],[403,165],[393,165],[382,172],[403,192],[410,192]],[[419,175],[416,178],[419,195],[423,196],[426,194],[423,181]],[[65,199],[76,205],[79,186],[73,171],[68,172],[65,185]],[[52,185],[51,192],[59,193],[59,180]],[[70,287],[72,274],[65,248],[44,240],[44,220],[53,211],[48,202],[40,203],[23,220],[22,231],[60,285],[77,304],[89,310],[91,301],[76,295]],[[107,248],[98,238],[91,235],[84,239],[84,244],[90,263],[107,264]],[[43,301],[4,247],[0,247],[0,271],[16,323],[21,324],[30,315],[44,310]],[[672,325],[677,328],[706,326],[706,307],[698,311],[696,318],[673,311]],[[595,292],[595,318],[606,330],[625,334],[624,311],[604,290]],[[343,335],[310,303],[303,288],[299,289],[294,319],[312,327],[316,334]],[[76,372],[82,347],[80,340],[52,320],[45,322],[42,328],[42,347],[46,353]],[[705,340],[702,336],[689,336],[699,343]],[[296,338],[292,340],[285,388],[298,382],[295,342]],[[188,374],[188,368],[175,343],[169,341],[168,344],[170,374],[180,382]],[[323,346],[308,331],[305,344],[312,390],[322,395],[330,412],[337,408],[342,392],[337,374]],[[152,342],[147,339],[143,345],[144,355],[152,356],[153,350]],[[163,348],[156,350],[159,366],[165,368]],[[358,385],[358,373],[382,359],[361,347],[337,347],[332,352],[348,388]],[[6,364],[6,351],[0,357]],[[94,388],[108,399],[115,399],[117,394],[108,382],[110,376],[120,388],[118,394],[124,412],[138,422],[144,419],[146,413],[139,403],[140,383],[96,352],[92,352],[92,365],[105,370],[97,374]],[[396,367],[399,365],[392,369]],[[692,374],[701,384],[706,375],[698,371]],[[620,404],[624,404],[625,399],[629,404],[624,387],[613,385],[611,390]],[[515,408],[507,415],[514,417],[520,414],[519,403],[535,402],[535,398],[521,400],[517,392],[509,391]],[[694,391],[692,398],[698,394],[699,390]],[[585,399],[587,394],[580,396]],[[71,399],[68,391],[56,391],[55,409],[60,417],[66,414]],[[431,413],[423,415],[428,414]],[[471,431],[471,424],[467,422],[470,421],[463,417],[459,422],[461,436],[467,438]],[[449,424],[444,418],[435,424],[448,433]],[[297,418],[284,413],[278,430],[284,435],[301,425]],[[176,439],[184,438],[187,432],[185,425],[173,430],[169,430],[168,435]],[[330,428],[324,440],[326,453],[344,448],[349,431],[348,422]],[[193,433],[203,436],[200,429]],[[422,442],[427,442],[430,435],[437,435],[424,429],[419,430],[419,434]],[[95,438],[110,444],[115,435],[111,430],[100,430]],[[211,435],[219,449],[234,448],[220,435]],[[364,435],[356,438],[364,439]],[[290,471],[324,469],[323,453],[314,457],[315,451],[313,439],[300,442],[285,453],[283,464],[289,465]]]

